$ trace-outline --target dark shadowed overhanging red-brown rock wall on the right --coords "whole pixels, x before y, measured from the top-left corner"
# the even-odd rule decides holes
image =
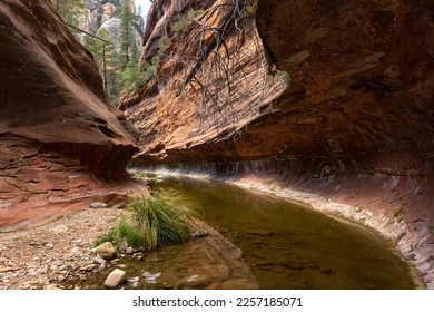
[[[406,224],[400,246],[423,270],[433,267],[434,240],[433,9],[260,0],[257,14],[265,47],[293,78],[276,126],[262,125],[295,162],[293,186]]]

